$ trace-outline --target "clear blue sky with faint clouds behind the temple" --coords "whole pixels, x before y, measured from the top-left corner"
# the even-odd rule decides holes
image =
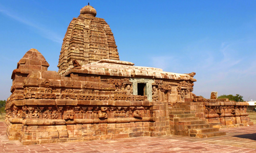
[[[256,1],[89,1],[110,25],[120,60],[196,72],[194,93],[256,100]],[[0,99],[30,48],[57,71],[62,39],[86,1],[0,1]]]

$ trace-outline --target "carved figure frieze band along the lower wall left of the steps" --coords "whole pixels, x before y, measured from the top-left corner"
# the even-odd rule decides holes
[[[110,107],[110,106],[64,106],[27,107],[7,111],[12,118],[24,119],[107,119],[153,117],[150,107]]]

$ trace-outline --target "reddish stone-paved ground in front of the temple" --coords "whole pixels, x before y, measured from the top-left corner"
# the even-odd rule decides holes
[[[256,125],[222,129],[226,136],[192,138],[184,136],[139,137],[38,145],[9,141],[0,122],[0,152],[256,152]]]

